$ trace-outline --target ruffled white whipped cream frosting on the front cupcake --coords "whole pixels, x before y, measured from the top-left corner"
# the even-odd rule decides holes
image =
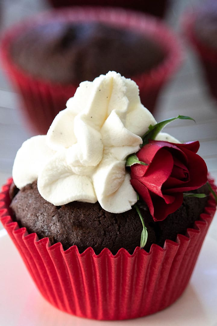
[[[137,195],[126,157],[140,149],[141,136],[155,124],[132,80],[110,71],[82,82],[47,135],[22,144],[14,161],[14,183],[22,188],[38,180],[39,193],[54,205],[98,200],[108,212],[128,211]],[[166,133],[156,139],[178,142]]]

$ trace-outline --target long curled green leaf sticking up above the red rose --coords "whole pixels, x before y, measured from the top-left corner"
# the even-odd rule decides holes
[[[170,122],[177,120],[177,119],[181,119],[181,120],[193,120],[195,122],[195,120],[191,117],[185,116],[185,115],[178,115],[177,117],[174,118],[170,118],[170,119],[166,119],[163,120],[159,123],[157,123],[155,126],[150,125],[148,127],[148,131],[142,136],[142,144],[140,145],[140,147],[142,148],[144,145],[146,145],[148,143],[149,139],[155,139],[157,134],[165,127],[167,126]]]

